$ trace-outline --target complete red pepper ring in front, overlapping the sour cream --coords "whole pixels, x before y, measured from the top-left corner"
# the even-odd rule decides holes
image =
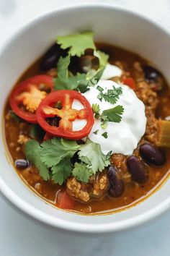
[[[84,108],[81,110],[71,108],[73,100],[79,101]],[[55,104],[61,101],[62,108],[54,108]],[[50,135],[63,137],[68,140],[80,140],[89,135],[94,124],[94,114],[89,101],[75,90],[58,90],[50,93],[37,108],[37,121]],[[48,117],[58,116],[61,118],[59,126],[54,127],[48,124]],[[86,119],[86,125],[79,131],[73,131],[72,121]]]

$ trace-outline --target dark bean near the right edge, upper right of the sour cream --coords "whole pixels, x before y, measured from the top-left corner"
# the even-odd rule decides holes
[[[143,72],[145,74],[145,78],[148,82],[150,82],[151,88],[153,90],[161,90],[164,86],[164,76],[154,67],[149,65],[143,66]]]

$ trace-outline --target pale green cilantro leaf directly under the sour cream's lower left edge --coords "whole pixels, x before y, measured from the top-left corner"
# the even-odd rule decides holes
[[[87,165],[91,165],[91,171],[96,174],[97,171],[103,171],[104,167],[109,165],[109,156],[102,153],[99,144],[86,140],[86,144],[80,145],[79,158]]]

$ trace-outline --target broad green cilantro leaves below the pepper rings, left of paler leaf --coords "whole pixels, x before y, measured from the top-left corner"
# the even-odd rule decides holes
[[[43,179],[52,179],[61,185],[71,175],[71,158],[78,149],[79,145],[73,140],[55,138],[41,145],[35,140],[29,140],[25,145],[25,154]]]

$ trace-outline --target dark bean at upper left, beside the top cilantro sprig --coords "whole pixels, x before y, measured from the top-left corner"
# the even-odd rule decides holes
[[[58,44],[53,44],[48,51],[42,56],[42,61],[40,62],[40,69],[42,71],[48,71],[53,67],[57,67],[58,59],[61,56],[66,56],[66,51],[61,49]]]

